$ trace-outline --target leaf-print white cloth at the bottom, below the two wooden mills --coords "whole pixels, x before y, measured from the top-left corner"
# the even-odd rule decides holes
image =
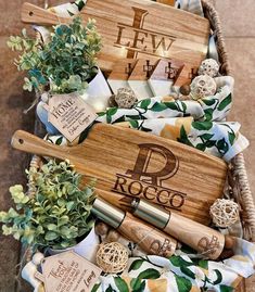
[[[254,252],[253,243],[237,239],[234,256],[224,262],[191,259],[186,254],[170,258],[154,255],[129,258],[122,275],[101,277],[94,292],[233,291],[242,277],[254,274]]]

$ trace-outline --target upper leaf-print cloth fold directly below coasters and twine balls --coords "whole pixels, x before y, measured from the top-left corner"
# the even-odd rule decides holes
[[[232,104],[233,78],[215,78],[217,93],[200,100],[175,100],[173,97],[155,97],[139,101],[132,109],[112,107],[99,113],[98,122],[116,123],[128,119],[193,116],[195,120],[222,120]]]

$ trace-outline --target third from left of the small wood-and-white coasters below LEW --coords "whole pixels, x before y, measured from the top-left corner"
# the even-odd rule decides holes
[[[183,67],[183,63],[175,60],[162,59],[155,66],[148,80],[155,97],[164,97],[171,93],[171,86]]]

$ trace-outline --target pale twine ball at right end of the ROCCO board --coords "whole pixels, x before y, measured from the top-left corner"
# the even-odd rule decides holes
[[[227,228],[239,219],[239,205],[230,200],[217,199],[211,206],[209,214],[217,227]]]

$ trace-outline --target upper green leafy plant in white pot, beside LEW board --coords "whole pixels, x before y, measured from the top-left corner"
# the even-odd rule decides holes
[[[102,42],[93,20],[82,25],[79,17],[74,17],[69,25],[54,26],[43,42],[23,29],[22,36],[10,37],[8,46],[20,51],[14,62],[17,69],[27,72],[23,88],[42,96],[37,114],[48,132],[58,132],[43,106],[51,94],[77,92],[97,112],[107,106],[111,90],[97,65]]]

